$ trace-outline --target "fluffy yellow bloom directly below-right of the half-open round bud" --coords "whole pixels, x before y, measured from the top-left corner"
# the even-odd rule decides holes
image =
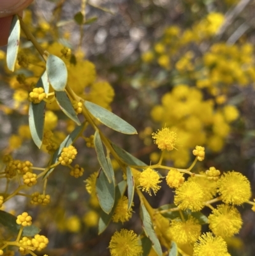
[[[175,192],[174,202],[182,210],[200,211],[204,207],[204,201],[203,189],[194,181],[184,182]]]

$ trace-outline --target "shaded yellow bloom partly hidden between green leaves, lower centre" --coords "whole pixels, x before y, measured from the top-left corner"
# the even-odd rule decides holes
[[[134,203],[132,204],[134,206]],[[119,200],[112,216],[113,222],[127,222],[132,217],[132,208],[128,210],[128,197],[125,195]]]

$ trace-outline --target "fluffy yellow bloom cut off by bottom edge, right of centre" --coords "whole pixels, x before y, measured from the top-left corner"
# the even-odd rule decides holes
[[[227,244],[220,236],[207,232],[194,243],[193,256],[228,256]]]

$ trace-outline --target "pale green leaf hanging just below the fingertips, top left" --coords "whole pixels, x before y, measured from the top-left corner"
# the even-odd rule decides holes
[[[20,20],[17,15],[13,15],[11,21],[10,34],[7,45],[6,63],[9,70],[12,72],[15,68],[15,63],[18,55],[18,45],[20,44]]]

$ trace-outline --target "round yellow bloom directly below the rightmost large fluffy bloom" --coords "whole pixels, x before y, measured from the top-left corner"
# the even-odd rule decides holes
[[[234,206],[221,204],[208,217],[209,227],[216,236],[231,237],[242,227],[242,218]]]

